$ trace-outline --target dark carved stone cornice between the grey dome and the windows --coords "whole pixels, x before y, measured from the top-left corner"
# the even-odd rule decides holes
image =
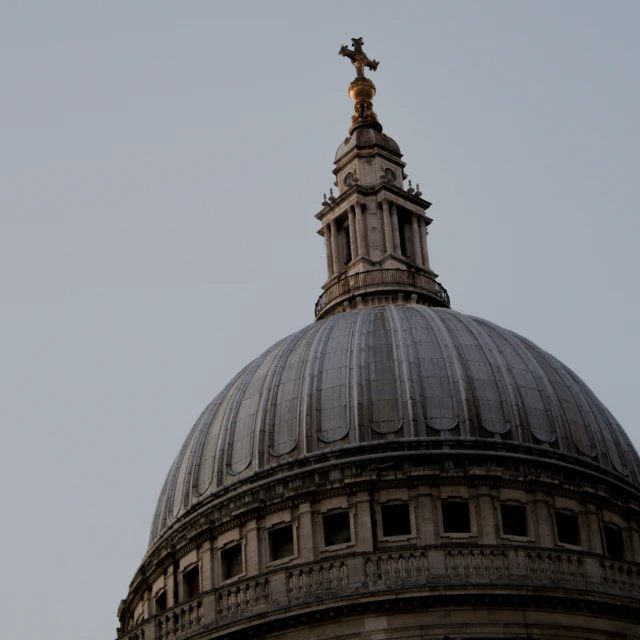
[[[381,447],[378,443],[371,443],[359,445],[347,452],[334,450],[308,456],[306,462],[311,463],[309,466],[304,465],[304,459],[283,464],[256,474],[253,482],[247,478],[240,487],[227,487],[208,503],[196,505],[192,513],[187,512],[167,530],[149,550],[141,569],[132,580],[132,595],[137,590],[136,585],[140,588],[143,571],[150,576],[157,575],[158,570],[166,569],[176,557],[184,555],[187,552],[184,551],[185,548],[191,549],[196,546],[197,540],[213,539],[243,522],[282,509],[284,505],[369,490],[371,486],[386,488],[420,484],[437,488],[489,483],[495,487],[508,486],[541,491],[577,501],[588,498],[590,502],[608,510],[615,509],[618,513],[633,510],[637,514],[640,509],[640,493],[636,488],[631,485],[624,486],[620,481],[606,477],[601,468],[598,472],[589,469],[581,459],[573,460],[576,456],[558,454],[556,460],[545,460],[530,455],[540,448],[533,445],[505,442],[500,443],[502,451],[492,451],[486,450],[486,440],[476,442],[484,445],[483,448],[469,448],[470,444],[473,442],[386,441],[384,447]],[[496,443],[491,444],[496,446]],[[423,448],[424,445],[448,448]],[[379,451],[371,453],[376,448]],[[360,451],[356,451],[358,449]],[[545,451],[550,453],[549,450]],[[345,453],[352,455],[347,457]],[[354,453],[361,455],[353,456]],[[475,458],[480,460],[487,457],[494,458],[495,467],[487,468],[474,464]],[[464,469],[447,468],[447,461],[455,458],[466,461]],[[402,468],[385,471],[372,467],[375,461],[390,460],[396,460]],[[578,462],[581,464],[576,464]],[[510,470],[509,467],[513,467],[514,463],[517,468]],[[335,481],[326,489],[318,490],[318,474],[330,469],[336,478]],[[398,478],[395,475],[397,473],[403,473],[405,477]],[[598,480],[595,483],[594,478]],[[588,482],[585,482],[585,479],[588,479]],[[278,486],[279,490],[274,494],[269,487],[275,486]],[[144,578],[144,583],[146,582]]]

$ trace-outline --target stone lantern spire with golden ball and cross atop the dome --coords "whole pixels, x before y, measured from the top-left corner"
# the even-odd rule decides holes
[[[355,113],[349,135],[335,158],[338,195],[324,198],[316,218],[322,223],[327,281],[316,303],[316,318],[384,304],[448,307],[449,296],[431,270],[426,215],[431,206],[409,182],[398,144],[382,132],[373,110],[376,88],[364,69],[379,62],[352,38],[339,54],[349,58],[356,78],[349,85]]]

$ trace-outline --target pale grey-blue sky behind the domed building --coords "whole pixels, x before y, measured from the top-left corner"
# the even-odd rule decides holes
[[[2,635],[115,637],[224,383],[313,321],[362,36],[455,309],[640,445],[640,2],[0,0]]]

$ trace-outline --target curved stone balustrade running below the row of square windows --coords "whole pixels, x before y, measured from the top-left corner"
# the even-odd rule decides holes
[[[443,588],[456,585],[498,591],[521,586],[640,600],[640,564],[585,551],[528,546],[451,544],[352,552],[272,569],[211,589],[118,637],[180,640],[195,629],[234,624],[267,612],[286,612],[312,601],[385,597],[386,592],[428,593],[430,589],[441,593]]]

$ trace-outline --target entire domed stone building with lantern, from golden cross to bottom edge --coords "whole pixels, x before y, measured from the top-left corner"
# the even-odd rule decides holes
[[[568,367],[449,308],[362,44],[317,321],[188,434],[118,638],[638,639],[640,458]]]

